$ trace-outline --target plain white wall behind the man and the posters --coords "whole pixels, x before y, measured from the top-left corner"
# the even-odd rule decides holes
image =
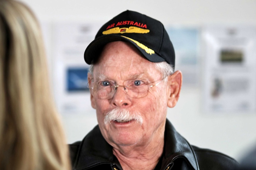
[[[22,0],[40,21],[106,22],[129,9],[160,20],[164,25],[203,26],[205,24],[256,25],[254,0]],[[52,49],[50,50],[50,57]],[[83,56],[81,56],[83,57]],[[256,113],[205,114],[201,108],[201,87],[183,87],[180,100],[169,109],[168,118],[193,145],[211,148],[240,159],[256,145]],[[89,96],[88,96],[89,100]],[[81,140],[97,124],[94,111],[62,114],[68,142]]]

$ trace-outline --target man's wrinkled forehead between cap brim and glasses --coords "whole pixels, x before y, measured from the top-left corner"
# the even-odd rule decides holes
[[[116,41],[108,43],[93,68],[94,77],[143,78],[160,75],[155,63],[148,61],[133,46]],[[103,76],[104,75],[104,76]]]

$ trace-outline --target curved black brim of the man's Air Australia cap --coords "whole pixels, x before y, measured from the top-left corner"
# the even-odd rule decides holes
[[[97,59],[102,51],[102,48],[110,42],[114,41],[125,41],[131,43],[135,48],[140,51],[140,53],[146,57],[151,62],[162,62],[165,61],[162,57],[160,57],[157,53],[149,54],[145,51],[145,49],[138,46],[134,41],[125,38],[121,35],[111,34],[111,35],[103,35],[99,38],[96,38],[94,41],[92,41],[89,46],[86,48],[84,52],[84,60],[87,64],[95,63],[97,62]]]

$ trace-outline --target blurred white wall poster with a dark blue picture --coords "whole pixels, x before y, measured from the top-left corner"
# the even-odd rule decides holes
[[[92,112],[87,88],[86,47],[100,24],[64,22],[53,25],[53,89],[60,113]]]

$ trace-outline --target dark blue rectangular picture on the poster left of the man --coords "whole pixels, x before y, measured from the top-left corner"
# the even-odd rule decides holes
[[[67,69],[67,91],[88,91],[87,88],[88,68],[68,68]]]

